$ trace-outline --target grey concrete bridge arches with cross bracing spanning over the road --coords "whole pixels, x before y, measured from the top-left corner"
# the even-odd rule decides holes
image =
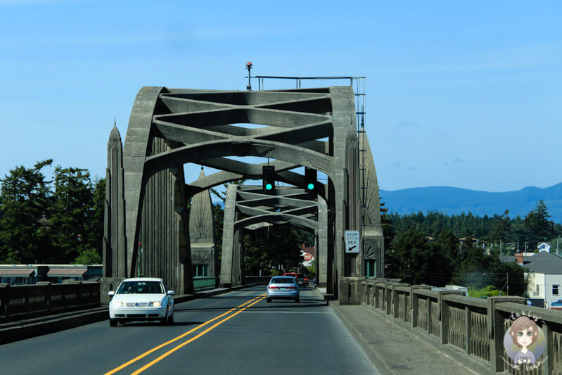
[[[267,162],[245,162],[244,157]],[[219,172],[189,182],[187,163]],[[367,263],[373,276],[383,277],[371,148],[364,128],[357,127],[352,87],[335,86],[271,91],[143,87],[124,143],[116,127],[108,141],[104,278],[117,282],[143,274],[163,277],[178,293],[192,291],[193,262],[203,262],[206,255],[214,262],[210,268],[217,268],[216,251],[192,251],[215,241],[208,189],[262,179],[264,165],[274,167],[276,181],[294,187],[280,187],[271,196],[259,188],[228,189],[223,238],[216,239],[223,243],[222,284],[240,282],[236,236],[260,222],[314,231],[325,254],[319,274],[328,293],[338,293],[344,278],[364,277]],[[302,167],[326,175],[317,194],[304,193]],[[272,212],[272,207],[283,209]],[[241,212],[249,216],[245,221],[237,220]],[[345,253],[346,230],[360,231],[359,253]]]

